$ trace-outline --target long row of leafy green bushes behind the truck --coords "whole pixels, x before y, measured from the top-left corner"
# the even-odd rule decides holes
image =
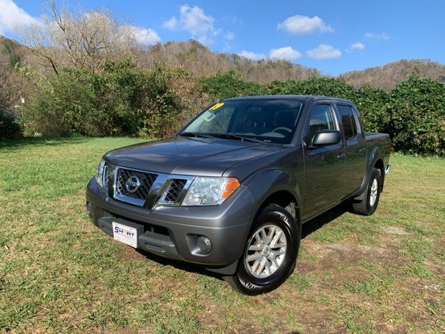
[[[60,70],[25,112],[26,132],[47,136],[172,136],[209,102],[243,95],[325,95],[351,100],[365,131],[387,132],[395,150],[445,156],[445,86],[410,77],[389,92],[338,78],[244,81],[234,70],[194,78],[183,67],[143,70],[130,59],[98,72]]]

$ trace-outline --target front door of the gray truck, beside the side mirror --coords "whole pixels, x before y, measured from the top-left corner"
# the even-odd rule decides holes
[[[302,134],[305,159],[303,218],[332,207],[345,195],[346,159],[343,141],[321,148],[312,147],[314,136],[323,129],[341,129],[334,106],[329,101],[312,105]]]

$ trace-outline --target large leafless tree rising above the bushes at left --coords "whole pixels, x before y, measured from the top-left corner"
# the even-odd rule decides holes
[[[138,31],[120,24],[107,11],[70,11],[56,1],[47,5],[40,22],[22,33],[41,65],[58,74],[60,67],[97,71],[104,59],[119,61],[138,47]]]

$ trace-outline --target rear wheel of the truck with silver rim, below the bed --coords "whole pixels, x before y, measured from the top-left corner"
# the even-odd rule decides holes
[[[371,216],[377,209],[380,191],[382,190],[382,175],[378,168],[373,168],[368,186],[362,200],[353,200],[353,212],[363,216]]]

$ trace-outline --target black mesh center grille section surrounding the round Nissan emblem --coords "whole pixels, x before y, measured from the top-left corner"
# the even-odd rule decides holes
[[[127,190],[126,184],[130,177],[137,176],[140,181],[140,186],[131,193]],[[153,173],[137,172],[136,170],[118,168],[118,180],[116,182],[116,192],[121,195],[137,198],[139,200],[146,200],[150,189],[152,188],[154,180],[158,175]],[[131,190],[131,189],[130,189]]]

